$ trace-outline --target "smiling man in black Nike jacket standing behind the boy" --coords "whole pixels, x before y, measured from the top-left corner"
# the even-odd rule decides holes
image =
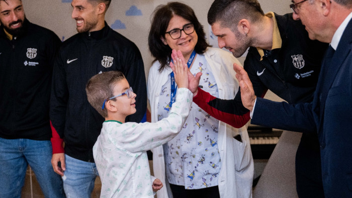
[[[146,112],[143,60],[137,46],[105,22],[110,2],[72,0],[72,18],[78,34],[63,42],[54,64],[50,99],[51,162],[54,171],[62,176],[69,197],[90,197],[99,175],[93,146],[104,118],[87,101],[87,81],[101,72],[121,71],[138,95],[137,112],[128,116],[126,122],[139,123]]]

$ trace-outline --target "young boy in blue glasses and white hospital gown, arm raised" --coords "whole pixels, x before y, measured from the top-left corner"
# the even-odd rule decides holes
[[[93,155],[102,180],[101,197],[153,197],[152,181],[146,151],[175,137],[184,125],[192,104],[188,87],[188,67],[174,61],[178,84],[175,102],[169,116],[156,123],[124,123],[134,114],[135,97],[124,75],[109,71],[93,76],[86,85],[89,103],[105,122]],[[162,187],[154,180],[153,188]]]

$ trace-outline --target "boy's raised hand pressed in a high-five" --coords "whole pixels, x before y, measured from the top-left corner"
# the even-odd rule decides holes
[[[176,51],[176,50],[172,50]],[[172,58],[173,63],[170,62],[170,67],[175,76],[175,81],[179,88],[188,88],[188,66],[184,58],[174,57]]]

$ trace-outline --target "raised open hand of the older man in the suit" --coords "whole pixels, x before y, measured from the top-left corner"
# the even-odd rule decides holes
[[[252,111],[256,99],[253,85],[249,80],[247,72],[241,66],[233,63],[233,69],[236,71],[236,78],[238,79],[239,86],[241,87],[242,104],[249,111]]]

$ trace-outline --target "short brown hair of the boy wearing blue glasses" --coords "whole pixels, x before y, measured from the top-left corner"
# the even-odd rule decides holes
[[[94,75],[85,86],[88,102],[104,118],[108,117],[106,108],[102,109],[104,100],[114,96],[114,87],[122,79],[125,76],[121,71],[108,71]]]

